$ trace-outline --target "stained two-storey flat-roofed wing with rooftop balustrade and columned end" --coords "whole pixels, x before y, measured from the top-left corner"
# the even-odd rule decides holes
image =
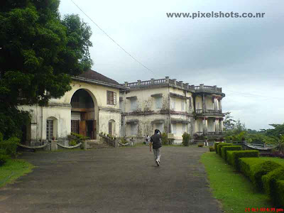
[[[222,88],[217,86],[189,85],[171,80],[125,82],[121,91],[121,136],[143,141],[154,129],[173,133],[180,143],[182,133],[195,138],[222,138]]]

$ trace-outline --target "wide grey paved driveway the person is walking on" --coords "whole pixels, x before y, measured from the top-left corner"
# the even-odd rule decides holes
[[[0,188],[0,212],[218,212],[200,155],[207,148],[148,146],[24,153],[37,167]]]

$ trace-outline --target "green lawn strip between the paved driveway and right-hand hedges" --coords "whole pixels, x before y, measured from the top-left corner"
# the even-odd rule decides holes
[[[224,162],[216,153],[204,153],[201,158],[215,198],[228,212],[245,212],[246,208],[273,207],[268,195],[258,192],[243,174]]]

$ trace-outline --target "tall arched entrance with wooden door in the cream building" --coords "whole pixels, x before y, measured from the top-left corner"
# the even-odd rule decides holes
[[[97,102],[85,89],[78,89],[71,99],[71,132],[97,139]]]

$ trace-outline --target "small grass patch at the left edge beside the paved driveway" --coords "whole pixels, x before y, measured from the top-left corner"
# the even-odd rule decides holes
[[[0,167],[0,187],[13,182],[26,173],[31,173],[33,168],[34,166],[25,160],[9,159]]]

